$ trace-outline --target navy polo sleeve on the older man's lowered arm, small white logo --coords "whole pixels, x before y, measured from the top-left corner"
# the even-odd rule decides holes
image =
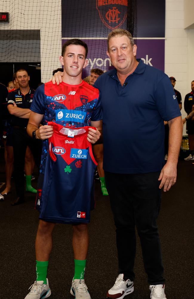
[[[156,84],[155,101],[158,112],[164,120],[181,116],[173,86],[167,75]]]

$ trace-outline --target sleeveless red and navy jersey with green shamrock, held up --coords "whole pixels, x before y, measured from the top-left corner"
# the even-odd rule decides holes
[[[97,163],[87,141],[89,127],[70,129],[48,122],[51,124],[53,136],[49,138],[41,201],[36,202],[39,218],[58,223],[90,222]]]

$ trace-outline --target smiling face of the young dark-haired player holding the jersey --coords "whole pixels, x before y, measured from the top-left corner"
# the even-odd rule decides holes
[[[59,60],[64,65],[64,73],[70,77],[77,77],[82,69],[86,67],[88,61],[85,60],[86,50],[81,45],[69,45],[66,47],[64,56]]]

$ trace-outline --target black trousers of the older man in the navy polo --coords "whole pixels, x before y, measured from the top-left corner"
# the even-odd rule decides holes
[[[148,282],[164,283],[161,245],[156,219],[160,210],[160,172],[118,174],[105,172],[110,205],[116,225],[119,274],[134,280],[135,226],[141,241]]]

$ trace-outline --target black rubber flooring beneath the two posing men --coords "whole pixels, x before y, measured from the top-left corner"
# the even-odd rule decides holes
[[[3,151],[0,150],[0,182],[5,181]],[[33,186],[36,187],[36,180]],[[193,299],[193,237],[194,237],[194,165],[178,162],[177,183],[162,195],[158,228],[163,252],[167,299]],[[1,188],[0,191],[2,191]],[[34,242],[38,227],[35,196],[26,193],[26,202],[12,207],[12,192],[0,202],[0,298],[24,299],[36,278]],[[101,195],[96,181],[96,209],[91,213],[90,247],[85,282],[92,299],[106,298],[107,290],[117,277],[115,227],[109,197]],[[137,238],[138,239],[138,238]],[[50,256],[48,279],[53,299],[73,299],[70,286],[73,277],[72,228],[56,225],[53,251]],[[134,292],[126,299],[150,298],[144,273],[139,241],[135,262]]]

